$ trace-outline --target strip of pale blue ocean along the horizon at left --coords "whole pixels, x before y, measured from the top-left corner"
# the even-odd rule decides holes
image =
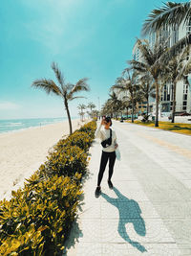
[[[72,118],[75,119],[76,117]],[[15,131],[25,128],[41,127],[54,123],[67,121],[67,117],[63,118],[31,118],[31,119],[9,119],[0,120],[0,133]]]

